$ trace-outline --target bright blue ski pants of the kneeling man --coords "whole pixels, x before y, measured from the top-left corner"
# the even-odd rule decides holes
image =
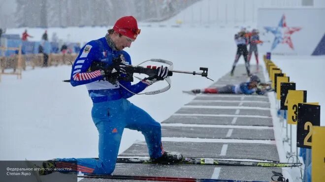
[[[66,168],[71,164],[75,172],[111,174],[115,168],[122,133],[125,128],[142,132],[150,157],[158,158],[162,156],[160,123],[127,99],[94,103],[92,118],[99,134],[98,159],[57,158],[57,167]]]

